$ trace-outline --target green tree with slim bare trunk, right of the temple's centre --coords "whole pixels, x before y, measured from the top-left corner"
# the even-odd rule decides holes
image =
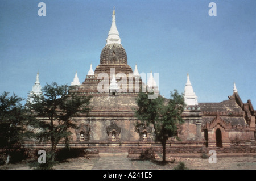
[[[183,95],[177,90],[171,92],[171,99],[165,100],[161,96],[148,99],[148,93],[139,93],[136,100],[138,110],[135,117],[138,121],[136,127],[153,127],[155,141],[160,141],[163,147],[163,162],[166,162],[166,141],[176,136],[177,125],[184,123],[181,117],[185,108]]]

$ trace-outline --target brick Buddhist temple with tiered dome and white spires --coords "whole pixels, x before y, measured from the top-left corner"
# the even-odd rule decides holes
[[[100,54],[100,64],[94,71],[90,64],[82,83],[77,73],[71,83],[71,86],[77,86],[73,91],[82,96],[92,96],[89,117],[73,117],[77,120],[78,129],[72,131],[71,147],[87,149],[90,154],[125,152],[133,156],[147,149],[161,153],[162,145],[154,141],[151,127],[137,131],[134,127],[139,87],[157,88],[158,85],[152,71],[147,82],[143,82],[137,65],[134,71],[128,65],[115,22],[114,10],[106,44]],[[30,94],[40,94],[38,77],[34,86]],[[202,153],[202,150],[213,148],[223,153],[255,153],[256,111],[250,100],[242,102],[235,84],[233,94],[220,103],[198,103],[188,74],[184,86],[187,104],[183,112],[185,123],[177,132],[180,140],[168,140],[167,153]],[[40,148],[35,142],[27,142],[24,146],[30,147],[31,144]]]

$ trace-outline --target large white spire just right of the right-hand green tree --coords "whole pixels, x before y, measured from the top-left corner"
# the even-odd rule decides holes
[[[197,96],[196,96],[195,92],[193,91],[193,87],[189,80],[189,75],[187,75],[187,83],[186,83],[185,90],[184,90],[184,99],[185,99],[185,103],[188,106],[198,105]]]

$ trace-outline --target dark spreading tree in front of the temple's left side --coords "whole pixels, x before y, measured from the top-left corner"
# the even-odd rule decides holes
[[[31,133],[40,142],[51,142],[52,161],[55,160],[56,146],[64,142],[69,146],[71,129],[77,128],[76,120],[72,117],[79,113],[88,115],[90,96],[80,96],[74,87],[57,85],[53,82],[43,87],[43,95],[34,95],[34,102],[27,103],[36,121],[31,123],[37,131]]]

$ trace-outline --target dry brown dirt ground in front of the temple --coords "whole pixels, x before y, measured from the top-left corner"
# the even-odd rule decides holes
[[[109,157],[111,160],[113,157]],[[92,158],[75,158],[68,159],[66,162],[60,163],[54,166],[56,170],[92,170],[99,161],[100,157]],[[161,155],[156,155],[156,159],[137,159],[137,158],[123,158],[125,161],[130,162],[134,170],[171,170],[179,164],[184,162],[188,169],[192,170],[256,170],[256,154],[240,154],[240,155],[221,155],[217,157],[217,163],[209,163],[208,158],[203,159],[201,155],[167,155],[167,163],[162,164]],[[114,163],[114,162],[113,162]],[[28,163],[23,161],[22,163],[2,165],[0,169],[11,170],[28,170]]]

